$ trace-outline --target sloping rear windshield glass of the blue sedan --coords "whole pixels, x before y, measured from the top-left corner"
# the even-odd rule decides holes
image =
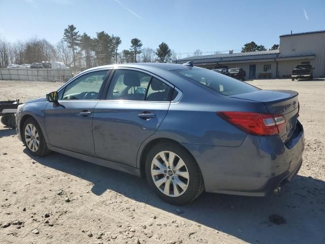
[[[244,93],[256,92],[260,90],[255,86],[236,80],[226,75],[207,69],[184,69],[174,70],[180,76],[194,80],[217,93],[225,96],[232,96]]]

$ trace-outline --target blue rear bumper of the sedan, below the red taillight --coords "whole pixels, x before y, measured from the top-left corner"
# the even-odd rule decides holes
[[[207,192],[266,196],[298,173],[304,131],[298,122],[286,144],[277,135],[247,135],[239,147],[183,145],[196,158]]]

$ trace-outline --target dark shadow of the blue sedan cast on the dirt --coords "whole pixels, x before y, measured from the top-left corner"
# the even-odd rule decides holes
[[[24,152],[28,154],[26,149]],[[173,206],[160,200],[145,179],[56,153],[31,158],[92,182],[91,191],[95,195],[112,190],[249,243],[325,243],[322,180],[297,175],[282,187],[281,195],[243,197],[204,193],[192,203]]]

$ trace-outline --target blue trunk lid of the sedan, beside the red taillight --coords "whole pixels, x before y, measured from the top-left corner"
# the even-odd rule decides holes
[[[258,90],[230,96],[232,98],[262,102],[269,113],[282,114],[285,126],[280,131],[280,137],[285,143],[296,130],[298,115],[298,93],[293,90]]]

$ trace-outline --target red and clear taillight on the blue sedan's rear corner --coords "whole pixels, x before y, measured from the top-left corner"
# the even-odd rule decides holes
[[[285,125],[285,118],[282,114],[217,112],[217,115],[238,129],[257,136],[279,134]]]

